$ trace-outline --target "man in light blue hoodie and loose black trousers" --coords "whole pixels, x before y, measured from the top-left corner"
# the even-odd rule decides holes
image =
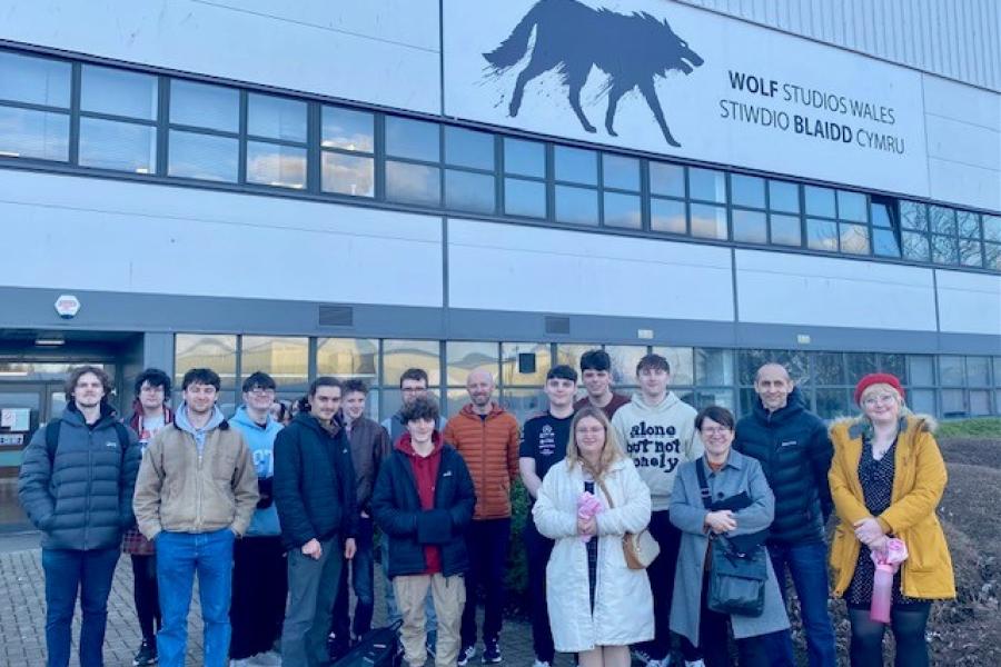
[[[232,623],[230,667],[280,665],[271,651],[281,634],[288,579],[281,528],[275,508],[271,482],[275,479],[275,438],[281,425],[271,417],[275,380],[266,372],[250,374],[244,380],[244,402],[230,420],[244,434],[257,470],[260,499],[250,519],[247,535],[234,547]]]

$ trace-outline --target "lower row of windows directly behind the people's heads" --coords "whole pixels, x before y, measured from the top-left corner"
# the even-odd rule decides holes
[[[427,371],[435,395],[445,397],[446,415],[468,402],[468,372],[488,368],[497,378],[502,405],[524,419],[545,409],[541,388],[549,368],[579,368],[581,356],[595,347],[608,352],[613,381],[625,392],[635,389],[640,358],[650,351],[663,355],[671,364],[672,389],[695,407],[722,405],[746,412],[757,368],[777,361],[790,369],[811,408],[827,419],[855,414],[854,384],[875,371],[896,375],[915,411],[1001,415],[1001,357],[987,356],[182,334],[175,341],[175,368],[178,385],[189,368],[216,369],[222,377],[224,404],[230,408],[241,379],[255,370],[271,374],[286,399],[301,396],[309,379],[320,375],[361,378],[373,389],[368,408],[374,418],[398,409],[398,379],[408,368]]]

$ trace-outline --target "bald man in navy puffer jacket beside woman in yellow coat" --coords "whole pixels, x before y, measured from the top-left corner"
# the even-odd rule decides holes
[[[824,525],[831,515],[827,470],[833,447],[827,427],[806,409],[789,371],[765,364],[754,377],[757,399],[736,425],[733,448],[761,462],[775,495],[775,520],[769,534],[769,556],[785,590],[792,575],[803,615],[810,667],[834,667],[834,628],[827,614],[827,547]],[[770,665],[792,667],[789,631],[764,637]]]

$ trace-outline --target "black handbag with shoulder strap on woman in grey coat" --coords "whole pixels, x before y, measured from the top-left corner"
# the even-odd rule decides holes
[[[744,499],[736,505],[731,499],[713,502],[703,465],[702,461],[697,461],[695,469],[698,474],[702,502],[707,510],[736,510],[742,509],[736,505],[746,507],[751,504],[751,498],[746,494],[741,494]],[[720,507],[721,505],[724,507]],[[720,614],[757,617],[764,613],[764,587],[769,578],[766,560],[769,555],[763,546],[767,530],[740,537],[741,539],[735,541],[722,535],[711,536],[713,554],[706,607]]]

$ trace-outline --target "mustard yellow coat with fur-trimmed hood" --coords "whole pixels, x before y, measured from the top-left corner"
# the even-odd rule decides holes
[[[945,490],[945,462],[932,435],[934,422],[922,416],[904,418],[906,428],[896,441],[895,472],[891,505],[876,517],[883,531],[908,546],[901,571],[901,593],[908,597],[943,599],[955,597],[952,558],[935,507]],[[834,460],[827,479],[841,519],[831,544],[834,596],[840,597],[852,580],[859,548],[854,521],[870,516],[859,482],[863,422],[851,419],[831,429]]]

